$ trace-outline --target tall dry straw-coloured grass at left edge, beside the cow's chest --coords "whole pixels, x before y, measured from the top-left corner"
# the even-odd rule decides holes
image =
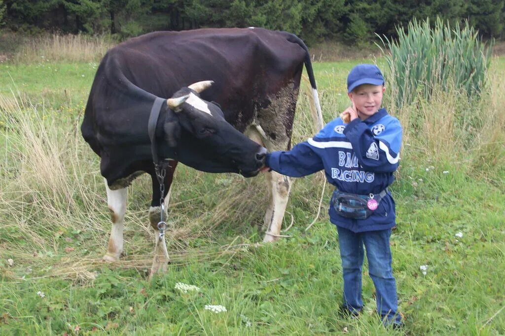
[[[95,224],[97,207],[89,200],[103,196],[83,183],[87,173],[80,164],[84,158],[77,138],[78,116],[65,120],[3,95],[0,110],[5,112],[0,217],[8,228],[19,228],[9,238],[13,251],[29,255],[54,250],[51,239],[62,230],[102,231]]]

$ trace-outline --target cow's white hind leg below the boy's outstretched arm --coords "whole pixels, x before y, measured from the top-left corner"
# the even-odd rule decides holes
[[[267,183],[272,188],[272,198],[265,215],[264,225],[267,230],[263,241],[271,242],[279,239],[292,181],[288,176],[275,171],[271,171],[266,175]]]

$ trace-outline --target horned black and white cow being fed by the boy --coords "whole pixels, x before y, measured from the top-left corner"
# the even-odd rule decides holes
[[[322,127],[310,55],[293,34],[261,28],[154,32],[109,50],[96,72],[81,126],[101,158],[107,182],[113,227],[104,259],[117,260],[123,252],[126,187],[143,172],[153,180],[149,220],[158,230],[161,195],[147,131],[157,99],[171,97],[156,128],[158,154],[170,160],[163,195],[167,208],[177,162],[248,177],[264,164],[266,150],[260,145],[271,151],[290,147],[304,64]],[[272,199],[264,241],[274,241],[291,181],[275,172],[266,175]],[[151,274],[168,260],[165,240],[157,239]]]

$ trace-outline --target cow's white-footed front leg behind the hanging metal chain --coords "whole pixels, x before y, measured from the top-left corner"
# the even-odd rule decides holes
[[[177,162],[170,161],[170,166],[167,168],[167,173],[164,181],[164,218],[167,221],[167,209],[170,200],[170,186],[172,185],[172,179],[174,176],[175,167]],[[151,266],[151,272],[149,278],[153,277],[158,272],[166,272],[167,265],[170,262],[170,257],[168,255],[167,243],[165,241],[165,236],[160,236],[160,231],[158,229],[158,223],[161,220],[161,207],[160,207],[160,185],[156,174],[153,172],[151,174],[151,179],[153,181],[153,201],[151,207],[149,208],[149,223],[151,228],[153,228],[154,240],[155,240],[155,251],[153,257],[153,265]]]

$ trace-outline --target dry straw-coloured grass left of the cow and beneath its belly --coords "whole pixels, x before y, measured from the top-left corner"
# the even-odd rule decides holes
[[[307,97],[303,99],[307,103]],[[103,253],[111,225],[105,186],[99,176],[98,158],[81,139],[79,116],[62,117],[46,110],[44,104],[34,106],[4,95],[0,95],[0,110],[6,112],[5,132],[0,139],[5,142],[0,153],[6,163],[0,170],[0,218],[4,227],[16,232],[0,250],[12,251],[9,255],[17,261],[36,263],[33,255],[61,253],[59,235],[79,230],[87,235],[89,249]],[[306,120],[294,138],[306,138],[313,132],[311,114],[301,113],[300,117]],[[209,183],[209,176],[188,167],[178,168],[169,207],[170,251],[194,249],[196,239],[211,241],[216,232],[228,227],[240,232],[240,226],[263,223],[263,178],[218,174],[212,175],[213,182]],[[153,248],[147,219],[150,183],[143,175],[128,188],[125,248],[136,256],[130,261],[142,265],[151,262],[144,260],[144,254]],[[310,193],[311,188],[299,192]],[[189,200],[184,200],[188,194]],[[317,211],[316,207],[312,210]],[[132,239],[139,235],[144,239],[135,238],[140,240],[132,246]],[[16,237],[21,237],[22,245]],[[74,266],[64,266],[69,267]]]

